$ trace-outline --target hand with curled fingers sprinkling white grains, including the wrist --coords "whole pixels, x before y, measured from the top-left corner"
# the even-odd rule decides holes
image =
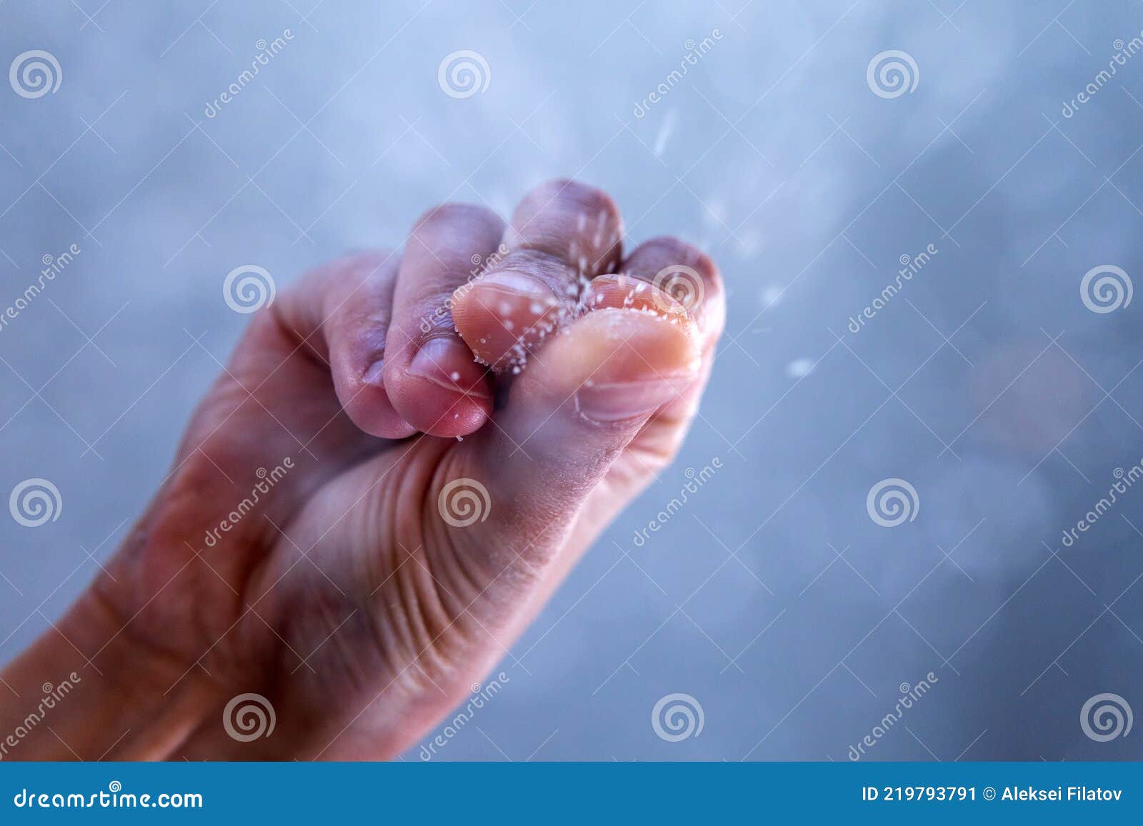
[[[606,194],[568,181],[506,227],[446,205],[403,252],[329,264],[259,311],[106,572],[5,672],[29,703],[82,680],[58,737],[6,756],[415,744],[695,412],[724,321],[717,271],[669,238],[624,258],[622,232]],[[223,724],[247,692],[272,705],[271,736]],[[5,730],[26,714],[6,705]]]

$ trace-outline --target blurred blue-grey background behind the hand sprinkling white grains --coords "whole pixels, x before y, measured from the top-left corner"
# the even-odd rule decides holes
[[[81,254],[0,328],[0,492],[43,478],[63,503],[34,529],[0,511],[0,660],[166,474],[216,374],[192,337],[221,359],[246,320],[227,272],[280,289],[439,201],[507,214],[562,175],[633,242],[706,249],[727,334],[679,460],[434,759],[844,761],[929,672],[866,759],[1143,756],[1143,731],[1080,723],[1104,692],[1143,712],[1143,486],[1061,540],[1143,457],[1143,299],[1080,294],[1143,272],[1143,55],[1096,80],[1141,30],[1128,0],[2,2],[0,69],[42,49],[62,82],[0,83],[0,310]],[[461,49],[488,66],[464,98],[438,83]],[[896,97],[866,77],[890,49],[917,66]],[[866,495],[893,478],[914,518],[885,528]],[[701,732],[656,735],[671,693]]]

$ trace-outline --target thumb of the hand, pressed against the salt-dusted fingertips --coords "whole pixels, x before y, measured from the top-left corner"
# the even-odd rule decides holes
[[[546,562],[615,458],[697,379],[698,337],[685,313],[600,304],[531,355],[491,425],[457,446],[456,471],[488,491],[487,519],[465,531],[481,555]],[[447,492],[439,504],[443,515]]]

